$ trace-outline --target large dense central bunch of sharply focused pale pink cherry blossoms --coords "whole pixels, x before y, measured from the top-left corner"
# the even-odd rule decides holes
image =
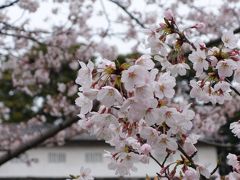
[[[81,127],[114,146],[109,167],[128,175],[134,162],[147,163],[152,153],[172,155],[178,135],[191,128],[194,112],[189,105],[172,104],[176,79],[154,68],[151,56],[118,66],[102,59],[99,65],[80,62],[76,82],[81,85],[76,104],[81,107]],[[95,72],[94,72],[95,71]],[[100,102],[93,112],[93,100]],[[192,155],[196,142],[185,137],[183,148]]]

